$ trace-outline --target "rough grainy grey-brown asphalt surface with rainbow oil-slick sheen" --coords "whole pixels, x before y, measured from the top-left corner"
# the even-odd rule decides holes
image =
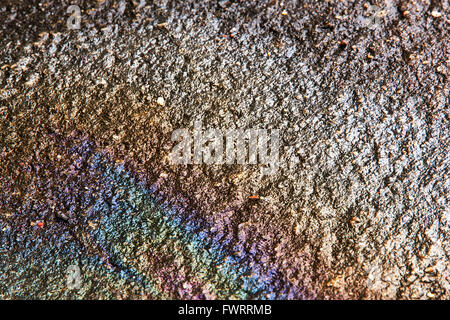
[[[147,2],[0,2],[2,299],[450,298],[447,1]],[[171,165],[198,119],[280,169]]]

